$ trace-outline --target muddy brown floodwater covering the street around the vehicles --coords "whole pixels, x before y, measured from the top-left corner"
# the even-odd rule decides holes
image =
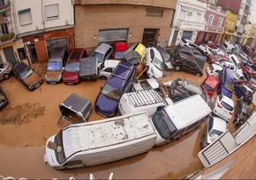
[[[36,64],[34,68],[44,76],[45,64]],[[166,75],[162,78],[163,82],[180,77],[201,83],[205,77],[183,72],[169,72]],[[82,82],[75,86],[44,82],[32,92],[26,90],[13,76],[1,82],[9,104],[0,111],[0,176],[39,179],[68,179],[73,176],[89,179],[90,173],[93,173],[96,179],[106,179],[113,172],[113,179],[166,179],[181,178],[203,167],[197,155],[201,149],[204,126],[180,140],[117,162],[69,170],[56,170],[45,164],[43,155],[46,140],[61,129],[57,126],[61,115],[59,104],[72,93],[86,97],[94,104],[104,82]],[[104,118],[93,111],[89,121],[98,119]]]

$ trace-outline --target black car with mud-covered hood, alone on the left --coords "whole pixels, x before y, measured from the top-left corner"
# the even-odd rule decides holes
[[[22,83],[27,90],[35,90],[42,83],[41,76],[24,62],[16,64],[12,68],[13,75]]]

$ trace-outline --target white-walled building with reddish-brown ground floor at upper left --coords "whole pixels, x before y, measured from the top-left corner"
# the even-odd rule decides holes
[[[29,64],[47,62],[55,47],[75,47],[72,0],[11,0],[11,23]]]

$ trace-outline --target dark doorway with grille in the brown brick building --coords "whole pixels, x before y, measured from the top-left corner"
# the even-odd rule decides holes
[[[144,29],[142,44],[145,47],[152,47],[157,44],[157,37],[160,29]]]

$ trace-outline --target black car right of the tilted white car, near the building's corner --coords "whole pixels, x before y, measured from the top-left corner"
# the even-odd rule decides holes
[[[183,69],[196,76],[203,76],[204,60],[196,59],[190,54],[175,53],[172,56],[172,65],[176,70]]]

